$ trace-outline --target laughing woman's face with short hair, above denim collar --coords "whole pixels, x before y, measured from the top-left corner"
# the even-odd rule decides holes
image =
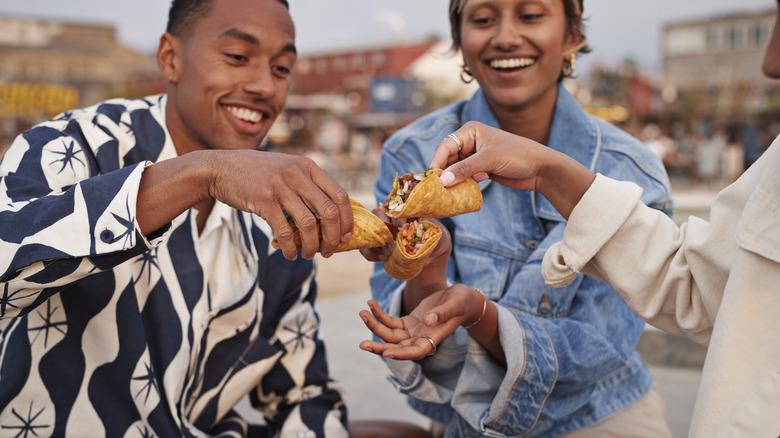
[[[564,56],[579,43],[563,0],[468,0],[460,31],[463,60],[494,108],[554,101]]]

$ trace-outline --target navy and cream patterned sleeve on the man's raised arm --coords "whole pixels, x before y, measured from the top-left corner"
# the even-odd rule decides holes
[[[111,142],[91,123],[49,122],[20,135],[3,158],[0,288],[11,298],[0,317],[25,314],[74,280],[162,241],[162,233],[143,236],[135,217],[151,163],[101,169],[90,146],[98,135]]]

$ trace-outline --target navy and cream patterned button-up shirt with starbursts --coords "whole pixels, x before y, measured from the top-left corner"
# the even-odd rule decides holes
[[[165,105],[62,114],[0,162],[0,437],[346,436],[311,261],[219,202],[201,233],[194,209],[140,233],[141,175],[176,157]]]

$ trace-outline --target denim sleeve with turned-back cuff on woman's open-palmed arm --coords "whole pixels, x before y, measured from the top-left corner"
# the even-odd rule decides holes
[[[452,404],[482,433],[544,436],[558,427],[556,420],[585,406],[608,379],[635,372],[630,365],[638,360],[634,349],[644,323],[611,287],[584,275],[564,289],[543,284],[543,248],[559,240],[563,227],[550,233],[496,300],[506,368],[475,341],[469,345]],[[541,294],[538,305],[524,291],[538,291],[531,294]],[[633,401],[646,390],[626,388],[624,397]]]

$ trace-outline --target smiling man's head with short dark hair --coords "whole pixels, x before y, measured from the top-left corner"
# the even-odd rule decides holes
[[[295,28],[278,0],[214,0],[178,47],[167,124],[179,153],[255,149],[287,99]]]

